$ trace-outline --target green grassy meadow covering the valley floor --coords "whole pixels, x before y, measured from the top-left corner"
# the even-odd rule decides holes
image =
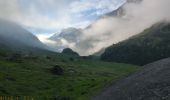
[[[64,69],[63,75],[54,75],[54,65]],[[52,57],[22,59],[21,62],[0,60],[0,95],[65,97],[68,100],[88,100],[113,81],[128,75],[139,67],[129,64],[75,60]],[[65,100],[65,99],[64,99]]]

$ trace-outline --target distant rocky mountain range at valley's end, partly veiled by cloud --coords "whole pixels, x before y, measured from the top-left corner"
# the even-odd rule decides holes
[[[138,3],[141,1],[142,0],[127,0],[127,3]],[[113,16],[114,17],[122,17],[125,13],[124,8],[123,8],[125,4],[123,4],[117,10],[114,10],[112,12],[105,14],[105,15],[102,15],[98,20],[105,18],[105,17],[113,17]],[[80,43],[80,42],[82,42],[82,40],[80,38],[83,35],[83,32],[90,29],[95,23],[98,22],[98,20],[91,23],[89,26],[87,26],[84,29],[77,29],[77,28],[64,29],[60,33],[56,33],[53,36],[51,36],[49,39],[56,42],[55,48],[57,48],[57,51],[62,51],[62,49],[64,49],[64,48],[72,48],[73,47],[72,45],[74,45],[74,46],[76,46],[76,48],[80,49],[80,48],[82,48],[82,47],[80,47],[80,45],[82,44],[82,43]],[[83,43],[84,42],[86,42],[86,40],[83,41]],[[89,44],[87,44],[87,45],[89,45]],[[100,52],[100,50],[98,52]],[[101,53],[98,53],[97,55],[99,55],[99,54],[101,54]]]

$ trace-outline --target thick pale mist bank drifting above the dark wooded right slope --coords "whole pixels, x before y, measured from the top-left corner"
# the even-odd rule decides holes
[[[158,22],[170,20],[170,0],[143,0],[126,3],[122,16],[107,16],[83,30],[80,42],[72,49],[90,55],[112,44],[141,33]]]

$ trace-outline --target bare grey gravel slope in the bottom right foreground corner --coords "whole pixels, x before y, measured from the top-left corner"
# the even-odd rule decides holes
[[[145,65],[92,100],[170,100],[170,58]]]

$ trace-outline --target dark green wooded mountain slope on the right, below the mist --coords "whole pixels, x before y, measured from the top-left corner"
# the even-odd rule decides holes
[[[170,57],[170,24],[159,23],[118,44],[101,55],[104,61],[144,65]]]

